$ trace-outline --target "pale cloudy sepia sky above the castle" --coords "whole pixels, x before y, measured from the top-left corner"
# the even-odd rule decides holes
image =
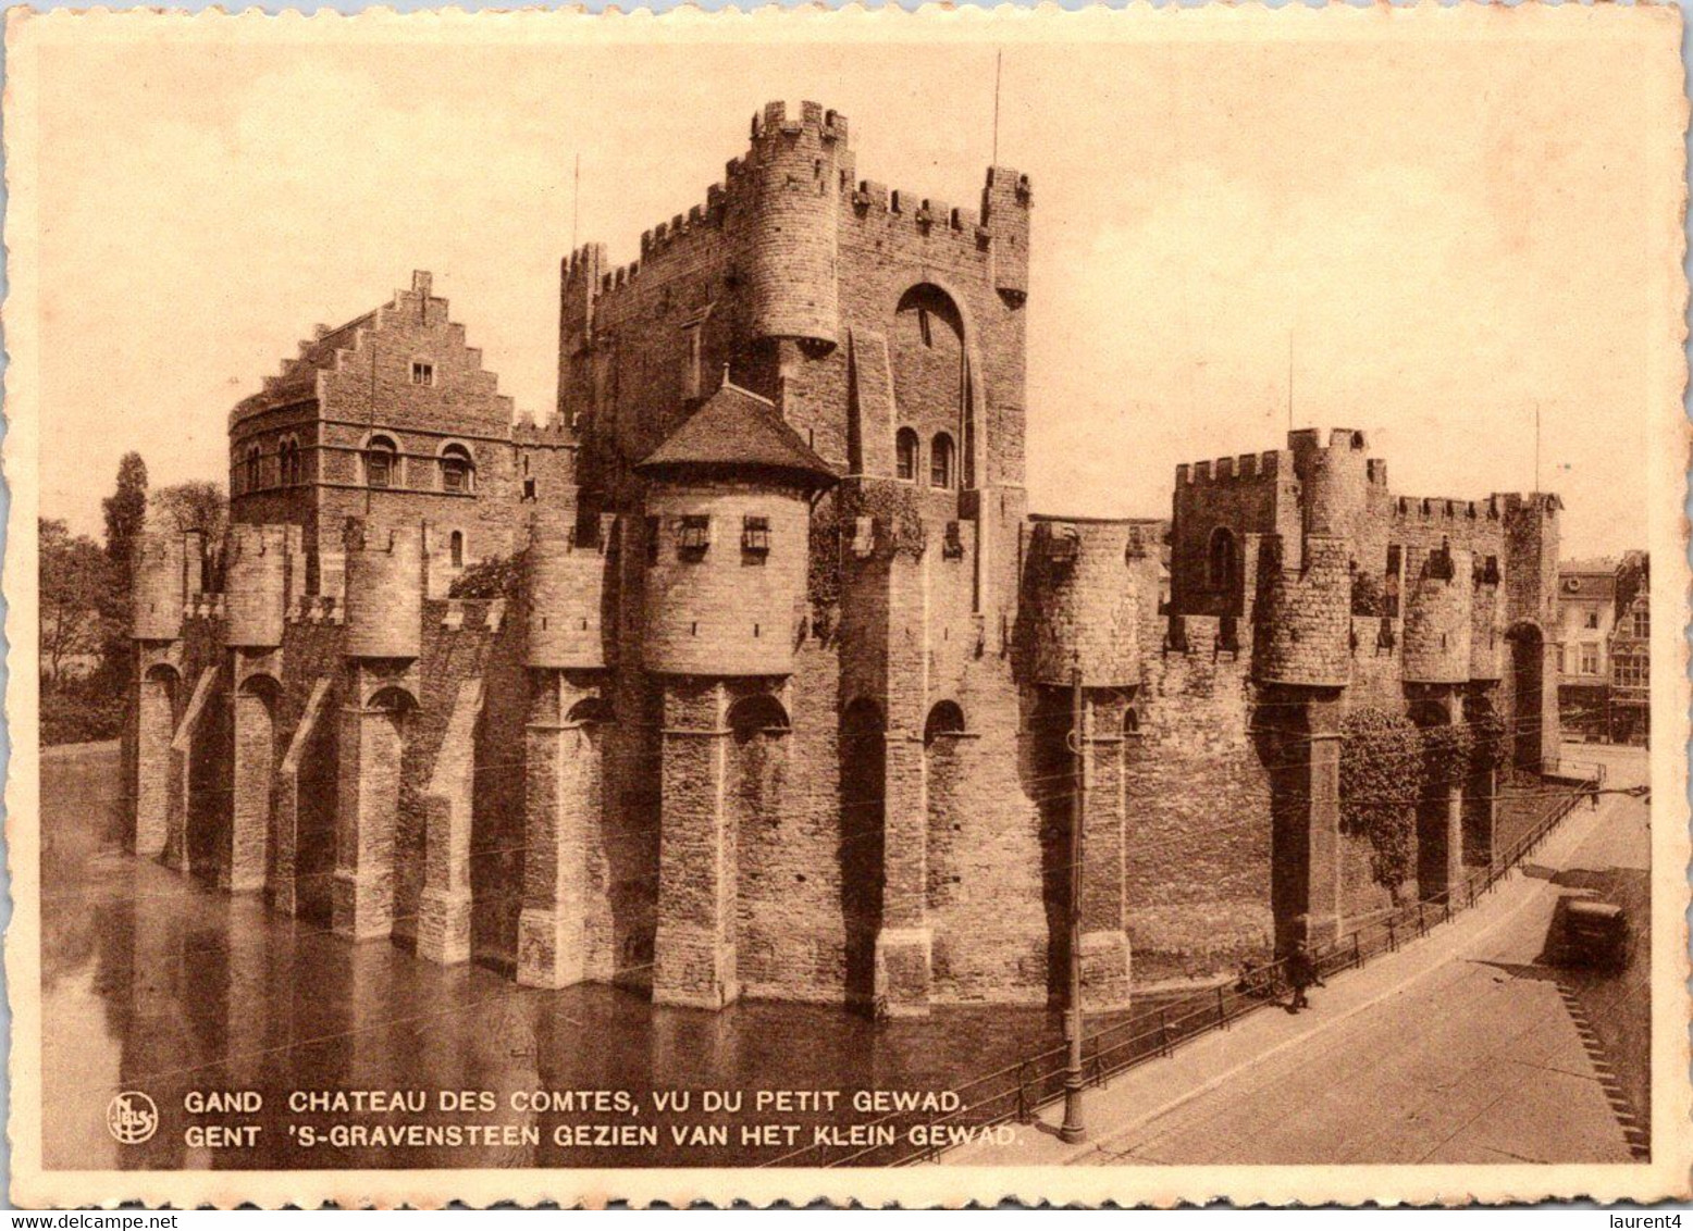
[[[1679,167],[1639,46],[1297,20],[1107,46],[47,39],[41,512],[98,534],[127,450],[154,485],[222,480],[230,408],[413,269],[550,414],[572,235],[631,260],[775,98],[848,115],[862,178],[975,203],[1002,51],[999,161],[1034,186],[1036,511],[1168,516],[1178,462],[1290,419],[1368,431],[1400,494],[1525,490],[1539,414],[1563,553],[1644,544]]]

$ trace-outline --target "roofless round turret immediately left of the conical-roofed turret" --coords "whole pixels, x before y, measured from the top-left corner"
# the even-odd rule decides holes
[[[528,548],[528,665],[598,670],[606,665],[604,534],[586,541],[564,519],[537,521]]]

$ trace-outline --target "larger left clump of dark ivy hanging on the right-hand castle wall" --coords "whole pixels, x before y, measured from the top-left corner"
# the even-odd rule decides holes
[[[1402,714],[1358,709],[1341,722],[1341,832],[1370,839],[1370,873],[1397,891],[1415,861],[1424,749]]]

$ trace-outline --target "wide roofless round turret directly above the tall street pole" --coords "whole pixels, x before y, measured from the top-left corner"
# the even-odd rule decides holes
[[[1144,550],[1128,522],[1034,524],[1036,683],[1068,685],[1075,668],[1089,687],[1139,683],[1139,614],[1146,595],[1133,565]],[[1139,556],[1136,556],[1139,551]],[[1156,561],[1153,561],[1156,568]],[[1151,573],[1156,605],[1156,572]]]

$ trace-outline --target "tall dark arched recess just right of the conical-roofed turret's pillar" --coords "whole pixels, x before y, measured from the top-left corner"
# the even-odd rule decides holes
[[[875,702],[858,698],[846,707],[838,751],[846,1003],[869,1008],[875,999],[875,937],[882,928],[887,820],[887,725]]]

